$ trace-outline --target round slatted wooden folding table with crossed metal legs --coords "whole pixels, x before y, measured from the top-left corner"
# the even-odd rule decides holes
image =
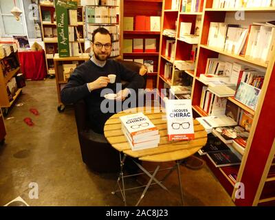
[[[140,151],[132,151],[131,146],[128,144],[126,137],[121,130],[121,122],[119,117],[122,115],[127,115],[131,113],[143,112],[144,115],[147,115],[148,118],[157,126],[160,134],[160,142],[159,146],[156,148],[148,148]],[[109,120],[104,125],[104,135],[107,138],[108,142],[120,152],[120,175],[118,177],[116,189],[119,187],[120,192],[122,194],[122,198],[124,200],[124,204],[126,206],[126,196],[125,196],[125,188],[124,188],[124,176],[123,174],[123,164],[126,156],[138,158],[145,162],[172,162],[175,161],[176,165],[171,168],[174,170],[177,168],[177,173],[179,177],[179,189],[181,192],[181,202],[184,204],[183,193],[181,189],[181,177],[180,177],[180,169],[179,165],[181,161],[186,157],[190,157],[199,149],[201,149],[207,142],[207,133],[203,126],[199,124],[197,120],[194,120],[194,131],[195,131],[195,139],[187,140],[187,141],[177,141],[177,142],[169,142],[168,134],[167,134],[167,126],[166,126],[166,115],[164,109],[160,108],[151,108],[151,107],[140,107],[135,109],[128,109],[126,111],[122,111],[120,113],[116,113],[112,115]],[[135,161],[134,161],[135,162]],[[148,175],[151,179],[148,181],[144,192],[140,197],[140,200],[137,201],[136,206],[140,203],[141,199],[144,197],[146,190],[151,185],[152,181],[155,181],[156,184],[167,190],[167,188],[162,184],[162,181],[158,181],[155,179],[155,175],[159,170],[159,166],[153,172],[153,175],[149,173],[144,167],[140,164],[136,163],[137,166]],[[133,175],[132,175],[133,176]],[[165,177],[166,178],[166,177]],[[122,181],[122,187],[120,186],[120,181]],[[119,192],[115,189],[112,193]]]

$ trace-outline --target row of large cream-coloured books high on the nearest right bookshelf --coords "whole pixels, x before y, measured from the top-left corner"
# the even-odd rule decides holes
[[[240,28],[239,25],[211,22],[208,34],[208,46],[236,55],[270,61],[272,43],[275,39],[275,26],[250,25]]]

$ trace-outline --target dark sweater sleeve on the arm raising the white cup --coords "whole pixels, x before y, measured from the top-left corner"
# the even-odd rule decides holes
[[[89,96],[87,83],[81,75],[80,69],[76,68],[69,77],[68,83],[61,91],[61,102],[63,104],[73,104]]]

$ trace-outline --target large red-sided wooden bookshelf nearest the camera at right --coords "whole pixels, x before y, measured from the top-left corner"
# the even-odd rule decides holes
[[[253,22],[272,21],[275,16],[275,8],[212,8],[213,0],[206,0],[202,14],[203,28],[201,30],[201,39],[199,42],[197,63],[195,65],[194,81],[192,87],[192,109],[195,115],[201,117],[208,116],[208,113],[200,107],[202,87],[205,86],[203,81],[199,80],[200,74],[206,74],[206,65],[208,58],[219,58],[231,63],[237,62],[242,65],[248,65],[253,69],[261,69],[265,72],[261,94],[257,102],[256,109],[250,109],[245,104],[237,101],[234,97],[228,97],[228,102],[232,102],[250,113],[253,118],[250,135],[243,153],[241,165],[232,169],[231,166],[224,168],[215,167],[206,157],[206,162],[214,175],[219,179],[225,190],[232,196],[236,206],[264,206],[274,204],[275,201],[275,176],[270,169],[274,163],[275,140],[274,140],[274,123],[275,119],[272,113],[275,106],[270,102],[274,100],[275,94],[275,50],[272,51],[272,58],[269,62],[246,56],[230,54],[219,48],[208,46],[208,33],[211,22],[227,22],[240,24],[241,27],[248,27]],[[230,20],[234,12],[245,12],[245,21],[234,23]],[[263,17],[263,18],[262,18]],[[260,21],[259,21],[260,19]],[[275,45],[275,42],[272,42]],[[230,173],[237,173],[236,182],[245,185],[245,198],[238,199],[234,188],[234,182],[228,177]],[[253,179],[253,181],[252,181]]]

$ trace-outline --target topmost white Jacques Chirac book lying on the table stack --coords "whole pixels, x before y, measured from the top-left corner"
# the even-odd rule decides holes
[[[157,135],[157,127],[144,115],[144,113],[133,113],[130,115],[120,116],[120,121],[129,132],[133,139],[135,136],[142,135]]]

